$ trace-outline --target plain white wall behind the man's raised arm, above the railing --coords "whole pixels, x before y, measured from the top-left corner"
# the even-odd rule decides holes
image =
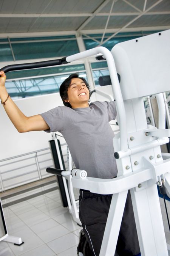
[[[32,116],[62,105],[62,100],[59,93],[54,93],[17,99],[15,103],[26,116]],[[48,140],[51,140],[51,134],[43,131],[19,133],[9,120],[2,105],[0,105],[0,122],[0,160],[49,147]]]

